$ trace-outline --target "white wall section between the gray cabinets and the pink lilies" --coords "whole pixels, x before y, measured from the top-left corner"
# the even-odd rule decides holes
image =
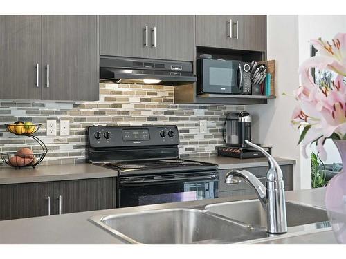
[[[298,16],[268,15],[267,26],[267,59],[276,60],[276,99],[267,105],[246,106],[253,115],[253,140],[273,146],[276,157],[295,159],[294,189],[309,188],[311,181],[300,175],[299,133],[290,124],[296,102],[294,97],[282,95],[292,94],[299,86]],[[306,182],[309,184],[304,185]]]

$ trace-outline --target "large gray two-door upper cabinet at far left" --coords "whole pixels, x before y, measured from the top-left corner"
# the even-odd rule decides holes
[[[99,99],[96,15],[0,15],[0,99]]]

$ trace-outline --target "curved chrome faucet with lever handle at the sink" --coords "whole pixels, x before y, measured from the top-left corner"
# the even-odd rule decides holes
[[[226,174],[226,184],[237,184],[241,181],[255,189],[262,207],[266,211],[267,232],[278,234],[287,232],[286,202],[284,197],[284,180],[279,164],[263,148],[248,140],[246,144],[261,151],[268,159],[269,169],[266,173],[266,186],[255,175],[246,170],[231,170]]]

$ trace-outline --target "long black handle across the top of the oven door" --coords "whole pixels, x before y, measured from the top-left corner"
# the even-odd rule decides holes
[[[138,185],[138,184],[152,184],[152,183],[160,183],[163,182],[165,184],[167,183],[175,183],[175,182],[182,182],[182,181],[188,181],[188,182],[195,182],[195,181],[207,181],[207,180],[217,180],[218,176],[217,173],[212,175],[201,175],[201,176],[195,176],[195,177],[187,177],[187,178],[163,178],[163,179],[154,179],[154,180],[133,180],[133,179],[127,179],[127,180],[120,180],[120,185],[122,186],[129,186],[129,185]]]

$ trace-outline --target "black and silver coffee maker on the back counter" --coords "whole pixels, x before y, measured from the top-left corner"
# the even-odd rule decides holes
[[[245,140],[251,142],[251,115],[246,111],[228,113],[223,136],[227,146],[247,146]]]

